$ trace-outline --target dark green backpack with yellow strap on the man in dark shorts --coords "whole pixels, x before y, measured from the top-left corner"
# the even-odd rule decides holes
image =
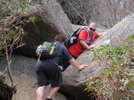
[[[42,45],[38,46],[36,53],[38,55],[38,60],[41,59],[52,59],[57,55],[58,53],[58,42],[49,42],[45,41]]]

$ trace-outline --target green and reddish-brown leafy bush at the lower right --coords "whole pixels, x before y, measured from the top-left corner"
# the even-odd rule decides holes
[[[92,50],[98,62],[99,75],[91,77],[85,91],[92,91],[98,100],[134,99],[134,34],[118,46]]]

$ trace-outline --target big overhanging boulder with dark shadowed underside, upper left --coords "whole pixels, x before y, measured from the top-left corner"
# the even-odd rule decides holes
[[[26,45],[15,50],[15,53],[35,58],[38,45],[54,39],[58,34],[68,37],[73,31],[66,14],[55,0],[32,0],[28,14],[35,16],[37,22],[36,24],[29,23],[24,27],[28,33],[24,37]]]

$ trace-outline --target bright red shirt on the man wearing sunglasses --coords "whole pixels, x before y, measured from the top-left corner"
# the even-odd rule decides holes
[[[85,29],[83,29],[80,31],[77,41],[84,40],[88,45],[90,45],[99,36],[100,35],[96,32],[94,32],[94,34],[89,34]],[[78,57],[85,49],[86,48],[83,47],[80,42],[76,42],[68,48],[69,52],[75,57]]]

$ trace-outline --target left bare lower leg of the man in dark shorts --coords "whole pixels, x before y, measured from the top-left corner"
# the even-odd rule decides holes
[[[40,86],[36,90],[36,100],[43,100],[44,89],[46,86]]]

